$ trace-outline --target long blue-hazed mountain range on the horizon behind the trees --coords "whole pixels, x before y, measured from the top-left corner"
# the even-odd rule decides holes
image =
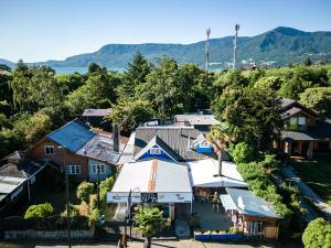
[[[151,62],[163,54],[173,57],[179,64],[196,63],[204,65],[205,42],[192,44],[108,44],[95,53],[79,54],[65,61],[33,63],[52,67],[86,67],[95,62],[107,68],[125,67],[137,52]],[[226,67],[233,57],[233,36],[210,40],[211,66]],[[239,36],[237,61],[239,64],[256,63],[286,65],[302,62],[305,58],[327,60],[331,62],[331,32],[303,32],[292,28],[279,26],[256,36]],[[13,66],[1,60],[0,63]]]

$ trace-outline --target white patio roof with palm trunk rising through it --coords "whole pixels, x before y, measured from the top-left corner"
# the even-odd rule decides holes
[[[214,176],[218,174],[218,164],[214,159],[189,161],[186,163],[191,169],[193,186],[247,187],[235,163],[222,161],[222,174],[224,176]]]

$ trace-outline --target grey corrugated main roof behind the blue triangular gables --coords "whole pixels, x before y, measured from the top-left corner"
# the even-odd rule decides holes
[[[202,132],[193,127],[157,126],[139,127],[136,129],[134,155],[138,154],[156,136],[169,145],[183,160],[200,160],[210,157],[216,158],[215,153],[201,154],[192,150],[193,140]]]

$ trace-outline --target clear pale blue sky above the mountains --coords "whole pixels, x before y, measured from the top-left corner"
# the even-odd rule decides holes
[[[64,60],[109,43],[193,43],[277,26],[331,31],[330,0],[1,0],[0,57]]]

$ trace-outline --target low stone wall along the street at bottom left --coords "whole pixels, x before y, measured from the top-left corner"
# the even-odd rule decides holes
[[[95,229],[89,230],[71,230],[72,239],[93,239]],[[65,239],[67,238],[67,230],[6,230],[6,240],[18,239]]]

